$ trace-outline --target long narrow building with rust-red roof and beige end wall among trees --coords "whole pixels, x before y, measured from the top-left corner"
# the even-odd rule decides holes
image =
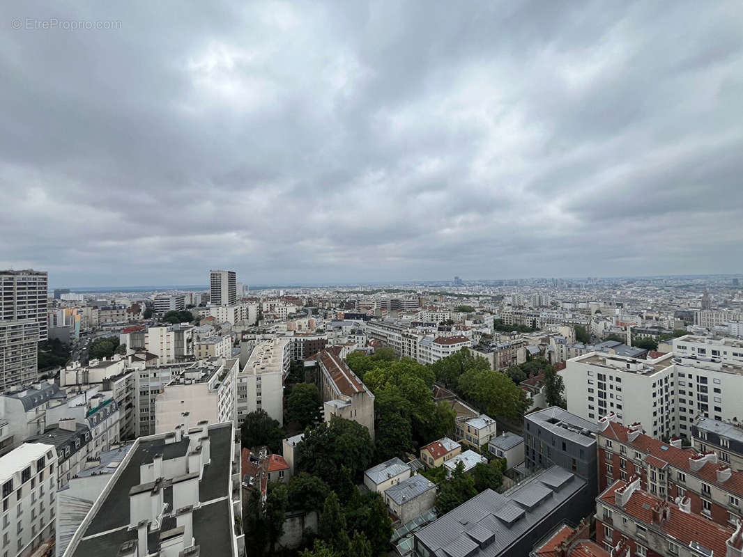
[[[333,416],[353,420],[368,429],[374,440],[374,394],[335,351],[323,350],[315,356],[315,361],[319,365],[317,382],[325,422],[330,422]]]

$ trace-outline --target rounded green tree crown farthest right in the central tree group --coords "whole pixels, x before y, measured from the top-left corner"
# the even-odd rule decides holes
[[[458,391],[486,414],[523,420],[530,405],[526,392],[500,371],[471,370],[458,381]]]

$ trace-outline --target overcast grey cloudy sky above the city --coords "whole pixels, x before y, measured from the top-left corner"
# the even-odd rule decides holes
[[[0,268],[56,286],[743,272],[739,1],[0,18]]]

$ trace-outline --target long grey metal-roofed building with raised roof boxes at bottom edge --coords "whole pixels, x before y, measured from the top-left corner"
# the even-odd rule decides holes
[[[562,521],[577,524],[593,503],[583,478],[552,466],[503,494],[485,489],[421,528],[413,556],[525,556]]]

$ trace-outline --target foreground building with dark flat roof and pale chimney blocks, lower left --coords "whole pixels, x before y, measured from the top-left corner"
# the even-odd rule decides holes
[[[185,417],[134,441],[114,472],[71,482],[59,498],[58,555],[244,554],[234,438],[233,423],[192,429]]]

